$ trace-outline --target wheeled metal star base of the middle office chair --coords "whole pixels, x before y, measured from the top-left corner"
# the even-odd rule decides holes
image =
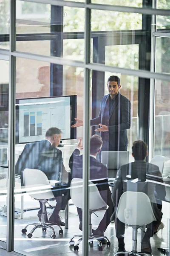
[[[74,242],[74,238],[75,237],[80,237],[80,239],[77,241],[77,244],[76,245],[74,245],[75,244],[75,242]],[[89,243],[93,243],[93,241],[97,241],[97,243],[98,243],[98,245],[99,245],[99,250],[100,251],[102,251],[102,242],[100,241],[101,239],[106,239],[107,240],[107,247],[109,246],[111,246],[111,242],[110,242],[110,240],[107,238],[107,236],[92,236],[92,235],[90,235],[90,236],[88,236],[88,242]],[[79,250],[79,243],[82,241],[82,235],[75,235],[75,236],[73,236],[71,239],[70,239],[70,241],[69,241],[69,243],[70,243],[70,245],[74,245],[74,250]]]

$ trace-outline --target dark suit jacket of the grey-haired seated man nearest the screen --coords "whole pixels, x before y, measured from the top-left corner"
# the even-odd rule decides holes
[[[15,165],[15,174],[21,175],[26,168],[41,170],[47,175],[48,180],[68,183],[68,172],[62,163],[62,152],[48,140],[25,146]]]

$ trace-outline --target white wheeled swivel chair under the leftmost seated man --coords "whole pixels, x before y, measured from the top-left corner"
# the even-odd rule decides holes
[[[36,189],[37,186],[47,186],[49,185],[49,180],[48,177],[45,175],[44,172],[37,170],[37,169],[24,169],[23,171],[23,184],[24,186],[26,186],[26,188],[31,188],[31,189]],[[55,238],[55,230],[53,227],[54,224],[50,224],[50,223],[45,223],[45,218],[46,218],[46,214],[47,212],[45,211],[45,204],[48,202],[49,199],[53,199],[54,195],[53,192],[51,191],[50,187],[48,190],[40,190],[40,193],[35,192],[34,193],[30,193],[31,198],[38,200],[42,203],[42,214],[41,214],[41,224],[39,223],[31,223],[26,225],[26,227],[24,227],[21,231],[22,233],[26,233],[27,232],[27,227],[32,225],[35,226],[31,229],[31,232],[27,235],[28,238],[32,237],[32,233],[34,232],[34,230],[36,230],[37,228],[41,227],[42,231],[46,231],[47,228],[49,228],[52,231],[51,234],[51,238]],[[57,225],[57,224],[56,224]],[[59,230],[59,234],[63,234],[63,230],[62,228],[57,225],[60,230]]]

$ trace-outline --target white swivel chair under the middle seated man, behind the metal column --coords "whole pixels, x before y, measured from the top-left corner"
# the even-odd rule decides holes
[[[74,178],[71,180],[71,199],[73,201],[73,204],[80,209],[83,208],[83,190],[82,190],[82,179]],[[91,224],[91,214],[95,212],[98,209],[101,209],[102,207],[106,206],[105,201],[103,201],[96,185],[89,182],[89,242],[97,241],[99,245],[99,250],[102,251],[102,243],[100,239],[106,239],[107,240],[107,247],[111,246],[111,242],[106,236],[93,236],[92,235],[92,224]],[[75,237],[80,237],[80,239],[77,241],[77,244],[74,242]],[[70,239],[70,245],[74,245],[74,250],[79,250],[79,243],[82,241],[82,235],[75,235]]]

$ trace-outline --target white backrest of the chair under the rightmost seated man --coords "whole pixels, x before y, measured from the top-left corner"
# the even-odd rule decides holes
[[[131,226],[143,226],[156,221],[148,196],[143,192],[132,191],[122,194],[116,218]]]

